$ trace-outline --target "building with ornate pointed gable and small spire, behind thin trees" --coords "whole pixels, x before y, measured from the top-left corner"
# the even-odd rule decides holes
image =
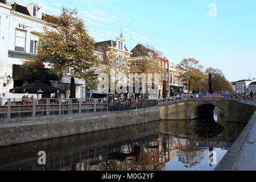
[[[115,82],[115,86],[119,86],[122,90],[123,86],[128,87],[128,79],[121,75],[129,73],[129,59],[131,52],[128,51],[125,45],[125,38],[121,34],[115,40],[107,40],[104,42],[97,42],[95,44],[95,53],[99,56],[101,64],[97,69],[97,73],[104,72],[109,74],[109,79]],[[110,85],[109,85],[110,86]],[[99,90],[90,90],[91,97],[105,97],[107,93],[100,92]],[[108,94],[115,94],[109,92]],[[128,97],[128,89],[122,92],[121,97]]]

